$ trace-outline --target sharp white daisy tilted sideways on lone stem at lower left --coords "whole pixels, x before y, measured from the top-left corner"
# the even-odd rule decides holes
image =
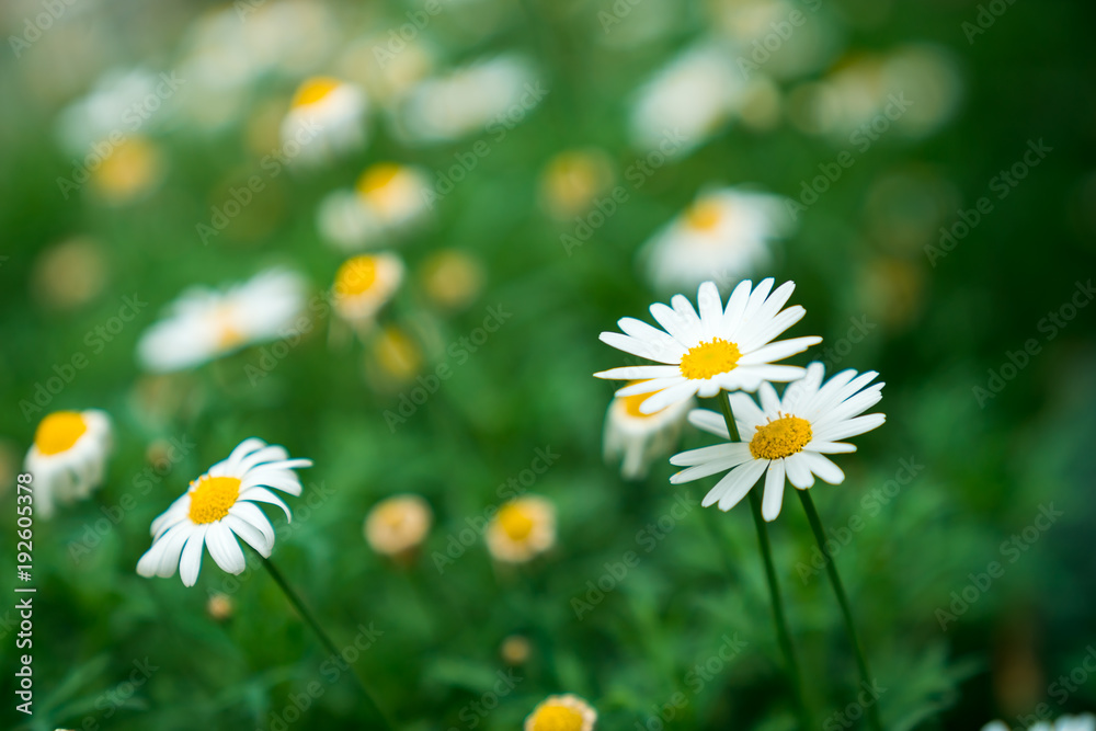
[[[168,578],[178,567],[183,585],[193,586],[203,547],[221,569],[241,573],[247,562],[237,536],[270,557],[274,527],[256,503],[277,505],[292,519],[289,506],[272,489],[299,495],[300,479],[293,470],[311,466],[311,459],[290,459],[285,447],[244,439],[152,521],[152,547],[137,562],[137,573]]]

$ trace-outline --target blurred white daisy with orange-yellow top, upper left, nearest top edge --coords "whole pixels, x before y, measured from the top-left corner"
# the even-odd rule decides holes
[[[330,77],[306,79],[282,121],[286,157],[318,162],[361,148],[368,107],[365,92],[354,84]]]

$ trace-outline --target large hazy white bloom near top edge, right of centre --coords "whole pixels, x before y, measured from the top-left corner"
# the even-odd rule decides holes
[[[672,155],[683,156],[730,121],[745,90],[745,78],[721,48],[689,48],[640,90],[631,111],[632,140],[653,150],[664,146],[666,135],[674,133],[683,141]]]

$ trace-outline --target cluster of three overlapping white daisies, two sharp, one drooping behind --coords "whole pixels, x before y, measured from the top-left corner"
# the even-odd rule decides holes
[[[655,453],[673,439],[672,431],[687,404],[700,396],[729,399],[737,432],[731,434],[719,413],[688,412],[693,425],[722,442],[674,456],[671,462],[686,469],[671,481],[727,472],[704,499],[705,506],[730,510],[764,475],[762,512],[766,521],[774,521],[780,513],[786,481],[807,490],[815,477],[831,484],[845,479],[826,455],[855,452],[855,446],[842,439],[883,423],[883,414],[861,415],[882,398],[883,385],[871,382],[879,375],[875,372],[844,370],[823,382],[821,363],[807,368],[778,364],[822,339],[776,341],[806,310],[798,305],[781,309],[794,283],[773,286],[772,278],[756,287],[741,282],[724,306],[716,284],[706,282],[697,293],[697,308],[683,295],[673,297],[670,306],[651,306],[661,330],[624,318],[618,323],[621,332],[602,333],[609,345],[660,364],[595,374],[632,381],[617,391],[606,432],[606,449],[626,453],[628,476],[646,470]],[[783,398],[774,382],[788,384]],[[743,391],[757,392],[761,402]]]

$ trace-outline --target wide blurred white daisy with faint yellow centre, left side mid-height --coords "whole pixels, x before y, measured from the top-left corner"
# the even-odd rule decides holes
[[[253,343],[286,336],[305,306],[299,275],[270,270],[225,292],[192,287],[137,344],[141,365],[168,373],[201,365]]]

